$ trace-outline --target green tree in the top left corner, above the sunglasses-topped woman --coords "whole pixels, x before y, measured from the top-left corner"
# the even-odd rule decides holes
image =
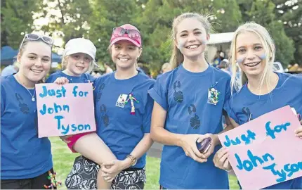
[[[25,33],[34,30],[33,13],[39,10],[38,0],[1,1],[1,46],[18,49]]]

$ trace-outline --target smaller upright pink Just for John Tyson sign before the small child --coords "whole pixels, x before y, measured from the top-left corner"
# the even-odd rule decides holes
[[[39,138],[96,131],[91,83],[36,84],[36,94]]]

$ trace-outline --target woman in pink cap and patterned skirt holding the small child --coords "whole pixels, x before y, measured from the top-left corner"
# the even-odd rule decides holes
[[[144,187],[146,152],[152,145],[153,101],[147,91],[155,81],[136,70],[142,52],[136,27],[115,27],[108,49],[117,71],[94,82],[97,132],[73,140],[72,148],[82,156],[67,176],[68,189],[96,189],[96,178],[98,189],[110,189],[104,181],[112,182],[112,189]],[[105,148],[114,158],[108,159]]]

